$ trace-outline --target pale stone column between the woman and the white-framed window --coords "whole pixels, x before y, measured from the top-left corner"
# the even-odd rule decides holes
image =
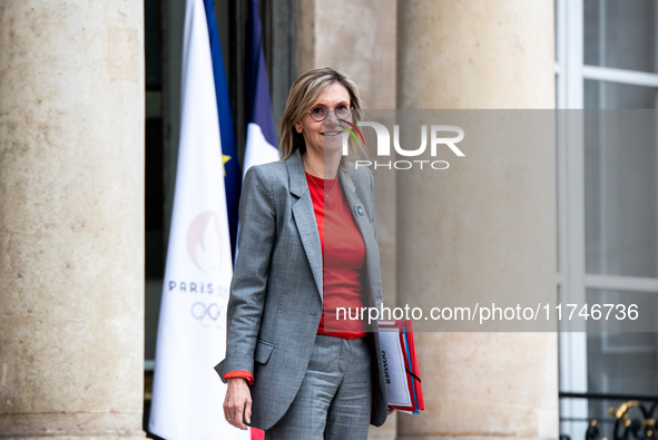
[[[399,107],[554,108],[552,17],[549,0],[400,2]],[[556,297],[554,149],[483,143],[468,153],[485,166],[446,173],[441,187],[397,176],[399,190],[415,196],[397,198],[399,261],[423,262],[399,265],[400,301],[423,291],[438,295],[426,303],[460,295],[475,304],[510,287],[512,297]],[[432,203],[407,206],[419,198]],[[419,237],[426,218],[434,233]],[[421,333],[416,345],[426,411],[399,418],[400,439],[558,438],[554,333]]]

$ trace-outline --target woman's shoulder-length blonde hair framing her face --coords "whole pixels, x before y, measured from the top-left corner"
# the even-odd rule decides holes
[[[324,92],[334,84],[345,87],[350,94],[350,108],[352,109],[352,124],[356,124],[362,117],[363,101],[359,95],[356,85],[345,74],[324,67],[313,69],[302,75],[291,87],[286,108],[281,118],[281,146],[279,155],[287,159],[297,150],[306,153],[304,136],[295,130],[295,124],[320,101]],[[356,154],[354,140],[350,139],[350,154]],[[341,168],[345,169],[345,157],[341,158]]]

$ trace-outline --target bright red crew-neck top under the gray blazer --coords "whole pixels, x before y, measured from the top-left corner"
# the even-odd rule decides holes
[[[364,338],[366,323],[355,317],[363,307],[365,245],[345,201],[338,177],[323,179],[306,173],[322,245],[322,317],[317,333],[344,339]],[[327,197],[328,195],[328,197]],[[337,307],[343,307],[336,312]]]

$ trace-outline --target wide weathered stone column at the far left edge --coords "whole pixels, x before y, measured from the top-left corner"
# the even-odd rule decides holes
[[[0,2],[0,438],[144,438],[143,8]]]

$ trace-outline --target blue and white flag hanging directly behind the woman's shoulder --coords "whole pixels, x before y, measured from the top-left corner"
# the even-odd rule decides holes
[[[243,173],[246,173],[252,165],[278,160],[257,0],[251,1],[251,9],[247,28],[247,82],[245,85],[248,125]]]

